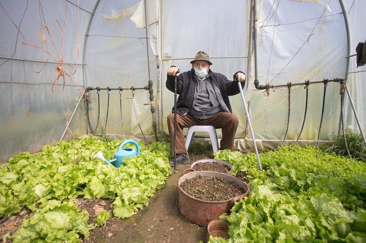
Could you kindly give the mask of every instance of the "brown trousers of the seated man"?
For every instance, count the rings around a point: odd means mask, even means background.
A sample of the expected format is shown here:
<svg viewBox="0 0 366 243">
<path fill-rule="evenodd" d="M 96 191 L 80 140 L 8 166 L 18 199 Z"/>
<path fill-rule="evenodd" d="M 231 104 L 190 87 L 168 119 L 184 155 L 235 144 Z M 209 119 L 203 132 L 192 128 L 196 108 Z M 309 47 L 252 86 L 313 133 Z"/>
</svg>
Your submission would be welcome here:
<svg viewBox="0 0 366 243">
<path fill-rule="evenodd" d="M 234 150 L 234 138 L 235 132 L 239 123 L 239 119 L 236 115 L 220 111 L 216 115 L 206 120 L 199 120 L 187 114 L 182 116 L 177 114 L 177 141 L 176 152 L 177 154 L 186 153 L 187 148 L 184 146 L 184 133 L 183 128 L 194 125 L 202 126 L 214 126 L 215 128 L 221 128 L 223 138 L 220 142 L 220 149 Z M 170 152 L 174 153 L 174 113 L 168 115 L 168 130 L 170 135 Z"/>
</svg>

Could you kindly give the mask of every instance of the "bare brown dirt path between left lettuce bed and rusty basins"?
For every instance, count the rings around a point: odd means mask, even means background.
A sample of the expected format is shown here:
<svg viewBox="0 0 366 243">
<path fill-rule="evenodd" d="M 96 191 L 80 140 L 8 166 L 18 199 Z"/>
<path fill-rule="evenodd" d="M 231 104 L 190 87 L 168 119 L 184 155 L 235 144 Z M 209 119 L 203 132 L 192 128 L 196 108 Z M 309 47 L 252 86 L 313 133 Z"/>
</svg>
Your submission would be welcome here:
<svg viewBox="0 0 366 243">
<path fill-rule="evenodd" d="M 195 158 L 195 160 L 201 158 Z M 103 227 L 91 231 L 84 242 L 108 243 L 196 243 L 206 241 L 207 227 L 190 223 L 178 208 L 178 180 L 190 164 L 178 166 L 149 205 L 127 219 L 111 217 Z"/>
</svg>

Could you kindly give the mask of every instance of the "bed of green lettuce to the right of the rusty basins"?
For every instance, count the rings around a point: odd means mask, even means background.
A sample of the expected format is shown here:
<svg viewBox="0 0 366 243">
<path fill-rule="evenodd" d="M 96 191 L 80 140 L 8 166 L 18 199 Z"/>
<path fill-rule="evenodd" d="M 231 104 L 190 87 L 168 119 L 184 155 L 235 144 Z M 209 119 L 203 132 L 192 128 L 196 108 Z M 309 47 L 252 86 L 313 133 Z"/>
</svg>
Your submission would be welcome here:
<svg viewBox="0 0 366 243">
<path fill-rule="evenodd" d="M 314 146 L 285 146 L 260 154 L 229 150 L 215 153 L 232 172 L 243 171 L 250 193 L 229 215 L 228 240 L 222 242 L 365 242 L 366 166 Z"/>
</svg>

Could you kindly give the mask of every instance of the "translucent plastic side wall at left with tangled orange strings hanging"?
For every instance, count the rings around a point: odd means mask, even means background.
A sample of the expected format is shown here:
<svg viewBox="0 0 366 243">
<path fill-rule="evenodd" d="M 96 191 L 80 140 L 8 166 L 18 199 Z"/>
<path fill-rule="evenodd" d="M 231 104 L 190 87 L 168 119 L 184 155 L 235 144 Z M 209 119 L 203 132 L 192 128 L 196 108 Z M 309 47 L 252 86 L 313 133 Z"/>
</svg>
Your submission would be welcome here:
<svg viewBox="0 0 366 243">
<path fill-rule="evenodd" d="M 5 161 L 61 138 L 83 92 L 81 51 L 90 13 L 68 1 L 0 3 L 0 161 Z M 84 117 L 79 108 L 66 139 L 86 133 Z"/>
</svg>

